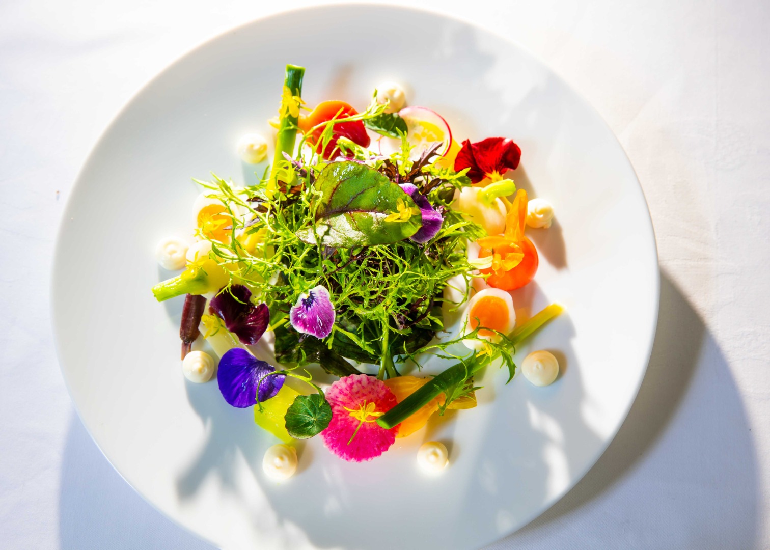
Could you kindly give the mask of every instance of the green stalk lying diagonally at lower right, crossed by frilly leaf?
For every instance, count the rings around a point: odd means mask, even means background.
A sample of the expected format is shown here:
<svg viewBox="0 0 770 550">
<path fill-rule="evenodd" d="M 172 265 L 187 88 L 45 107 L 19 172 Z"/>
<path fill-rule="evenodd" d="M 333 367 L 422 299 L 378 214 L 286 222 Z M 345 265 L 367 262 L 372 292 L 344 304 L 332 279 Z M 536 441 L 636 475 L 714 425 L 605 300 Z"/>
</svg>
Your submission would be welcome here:
<svg viewBox="0 0 770 550">
<path fill-rule="evenodd" d="M 521 344 L 521 342 L 534 334 L 537 329 L 558 314 L 561 314 L 563 310 L 564 308 L 559 304 L 551 304 L 546 307 L 511 333 L 511 336 L 509 337 L 511 344 L 514 347 Z M 390 409 L 390 411 L 387 411 L 383 416 L 377 418 L 377 424 L 380 424 L 381 427 L 387 430 L 394 428 L 397 424 L 405 421 L 412 414 L 415 414 L 422 407 L 430 403 L 430 401 L 438 397 L 439 394 L 444 393 L 448 387 L 462 384 L 482 368 L 490 364 L 490 362 L 491 358 L 485 355 L 484 357 L 473 357 L 466 363 L 452 365 L 447 368 L 446 371 L 438 374 L 433 380 L 423 385 L 423 387 L 420 387 L 420 389 Z"/>
</svg>

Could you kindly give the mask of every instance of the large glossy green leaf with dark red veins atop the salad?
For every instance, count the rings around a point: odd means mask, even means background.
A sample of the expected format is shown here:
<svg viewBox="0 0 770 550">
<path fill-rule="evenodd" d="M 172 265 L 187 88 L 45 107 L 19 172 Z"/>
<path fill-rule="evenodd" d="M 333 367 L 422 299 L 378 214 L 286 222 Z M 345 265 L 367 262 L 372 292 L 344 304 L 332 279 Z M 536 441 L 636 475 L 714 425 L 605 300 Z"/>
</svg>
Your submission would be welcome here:
<svg viewBox="0 0 770 550">
<path fill-rule="evenodd" d="M 423 223 L 417 205 L 396 183 L 369 166 L 343 161 L 324 166 L 316 179 L 316 233 L 321 243 L 335 248 L 397 243 L 408 239 Z M 417 210 L 408 220 L 385 221 L 398 212 L 398 201 Z M 313 230 L 297 233 L 316 244 Z"/>
</svg>

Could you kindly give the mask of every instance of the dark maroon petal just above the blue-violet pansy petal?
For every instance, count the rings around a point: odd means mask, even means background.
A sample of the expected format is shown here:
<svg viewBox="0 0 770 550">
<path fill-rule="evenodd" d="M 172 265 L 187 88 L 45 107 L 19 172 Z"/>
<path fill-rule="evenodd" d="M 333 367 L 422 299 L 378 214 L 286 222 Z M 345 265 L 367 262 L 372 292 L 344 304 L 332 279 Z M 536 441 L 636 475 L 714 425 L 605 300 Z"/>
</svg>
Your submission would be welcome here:
<svg viewBox="0 0 770 550">
<path fill-rule="evenodd" d="M 243 344 L 252 346 L 265 334 L 270 323 L 270 310 L 267 304 L 254 306 L 249 298 L 251 290 L 234 284 L 229 291 L 213 297 L 209 310 L 222 319 L 227 330 L 236 334 Z"/>
</svg>

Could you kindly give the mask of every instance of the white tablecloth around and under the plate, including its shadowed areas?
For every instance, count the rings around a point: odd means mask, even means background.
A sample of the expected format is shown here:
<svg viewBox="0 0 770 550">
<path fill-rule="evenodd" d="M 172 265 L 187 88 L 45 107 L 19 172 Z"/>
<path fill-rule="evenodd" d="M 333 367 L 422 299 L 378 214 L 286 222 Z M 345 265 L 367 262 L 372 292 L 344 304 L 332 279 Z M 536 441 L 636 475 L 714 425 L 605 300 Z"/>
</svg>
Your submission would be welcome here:
<svg viewBox="0 0 770 550">
<path fill-rule="evenodd" d="M 0 2 L 0 548 L 210 548 L 142 501 L 75 415 L 52 347 L 55 233 L 89 149 L 144 82 L 213 35 L 311 3 Z M 661 258 L 628 420 L 494 548 L 770 547 L 770 2 L 425 4 L 517 40 L 598 109 Z"/>
</svg>

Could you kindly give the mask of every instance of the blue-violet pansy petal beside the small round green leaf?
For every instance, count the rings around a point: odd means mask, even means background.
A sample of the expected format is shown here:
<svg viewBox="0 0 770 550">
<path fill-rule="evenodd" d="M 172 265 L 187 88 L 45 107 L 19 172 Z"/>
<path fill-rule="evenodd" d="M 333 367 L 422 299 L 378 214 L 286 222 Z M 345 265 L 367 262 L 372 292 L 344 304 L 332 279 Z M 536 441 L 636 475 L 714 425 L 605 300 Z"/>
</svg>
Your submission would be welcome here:
<svg viewBox="0 0 770 550">
<path fill-rule="evenodd" d="M 219 383 L 219 391 L 222 392 L 225 401 L 233 407 L 251 407 L 257 401 L 257 384 L 259 384 L 260 402 L 275 397 L 283 387 L 286 374 L 266 376 L 275 371 L 275 367 L 265 361 L 259 361 L 248 351 L 233 347 L 219 360 L 216 381 Z"/>
</svg>

